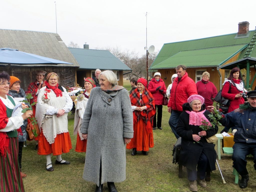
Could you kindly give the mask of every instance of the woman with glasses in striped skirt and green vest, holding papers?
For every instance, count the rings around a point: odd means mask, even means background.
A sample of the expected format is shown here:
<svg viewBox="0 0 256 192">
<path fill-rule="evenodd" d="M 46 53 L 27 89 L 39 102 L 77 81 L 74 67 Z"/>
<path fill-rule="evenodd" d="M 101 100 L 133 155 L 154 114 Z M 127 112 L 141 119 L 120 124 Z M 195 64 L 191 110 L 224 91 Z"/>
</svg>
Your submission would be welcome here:
<svg viewBox="0 0 256 192">
<path fill-rule="evenodd" d="M 33 114 L 31 110 L 12 116 L 13 109 L 19 104 L 9 92 L 10 76 L 5 71 L 0 73 L 0 191 L 24 191 L 18 163 L 18 134 L 23 121 Z M 27 105 L 23 105 L 26 108 Z"/>
</svg>

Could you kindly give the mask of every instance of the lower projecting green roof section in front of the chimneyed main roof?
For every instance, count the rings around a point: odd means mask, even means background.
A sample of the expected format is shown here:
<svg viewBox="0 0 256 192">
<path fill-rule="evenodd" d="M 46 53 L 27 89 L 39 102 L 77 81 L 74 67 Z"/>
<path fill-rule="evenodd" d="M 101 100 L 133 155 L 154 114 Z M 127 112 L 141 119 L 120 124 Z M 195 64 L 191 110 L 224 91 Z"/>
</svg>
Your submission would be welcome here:
<svg viewBox="0 0 256 192">
<path fill-rule="evenodd" d="M 193 51 L 180 51 L 168 59 L 151 67 L 151 69 L 169 69 L 178 65 L 186 67 L 217 67 L 232 58 L 247 45 L 200 49 Z"/>
</svg>

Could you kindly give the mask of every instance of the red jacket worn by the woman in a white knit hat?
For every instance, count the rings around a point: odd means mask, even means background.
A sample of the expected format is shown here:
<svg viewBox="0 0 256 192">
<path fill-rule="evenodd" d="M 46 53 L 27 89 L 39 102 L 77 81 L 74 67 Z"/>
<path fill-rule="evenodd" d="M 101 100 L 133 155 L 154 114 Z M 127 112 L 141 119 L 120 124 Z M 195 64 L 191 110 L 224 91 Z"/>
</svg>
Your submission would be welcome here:
<svg viewBox="0 0 256 192">
<path fill-rule="evenodd" d="M 164 90 L 162 93 L 158 90 L 156 91 L 156 88 L 160 86 L 160 89 Z M 155 78 L 152 78 L 148 84 L 148 91 L 150 91 L 152 96 L 154 97 L 155 105 L 163 105 L 164 94 L 166 93 L 166 87 L 163 79 L 160 78 L 159 81 L 156 81 Z"/>
</svg>

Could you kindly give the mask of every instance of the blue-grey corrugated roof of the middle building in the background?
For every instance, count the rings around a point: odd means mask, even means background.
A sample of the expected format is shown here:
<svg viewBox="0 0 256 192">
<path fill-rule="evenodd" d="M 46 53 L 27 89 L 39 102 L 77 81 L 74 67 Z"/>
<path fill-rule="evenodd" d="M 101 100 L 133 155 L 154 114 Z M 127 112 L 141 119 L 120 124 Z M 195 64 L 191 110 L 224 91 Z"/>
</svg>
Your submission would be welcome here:
<svg viewBox="0 0 256 192">
<path fill-rule="evenodd" d="M 107 50 L 71 48 L 80 65 L 80 69 L 131 70 L 122 61 Z"/>
</svg>

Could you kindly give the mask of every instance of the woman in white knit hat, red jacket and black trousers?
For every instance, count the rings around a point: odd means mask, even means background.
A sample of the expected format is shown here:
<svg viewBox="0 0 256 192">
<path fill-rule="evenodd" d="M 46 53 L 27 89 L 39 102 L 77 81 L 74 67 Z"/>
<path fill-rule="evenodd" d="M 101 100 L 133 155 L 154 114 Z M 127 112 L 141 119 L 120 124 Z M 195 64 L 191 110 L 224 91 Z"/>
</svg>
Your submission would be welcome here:
<svg viewBox="0 0 256 192">
<path fill-rule="evenodd" d="M 161 79 L 161 74 L 159 72 L 155 72 L 154 78 L 148 84 L 148 91 L 151 92 L 152 96 L 155 99 L 155 109 L 157 108 L 157 122 L 156 122 L 156 114 L 153 119 L 153 130 L 156 130 L 156 126 L 158 129 L 162 129 L 162 111 L 163 111 L 163 100 L 164 94 L 166 94 L 166 87 L 163 79 Z"/>
</svg>

